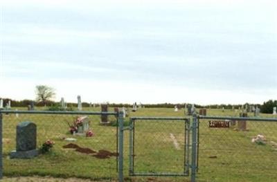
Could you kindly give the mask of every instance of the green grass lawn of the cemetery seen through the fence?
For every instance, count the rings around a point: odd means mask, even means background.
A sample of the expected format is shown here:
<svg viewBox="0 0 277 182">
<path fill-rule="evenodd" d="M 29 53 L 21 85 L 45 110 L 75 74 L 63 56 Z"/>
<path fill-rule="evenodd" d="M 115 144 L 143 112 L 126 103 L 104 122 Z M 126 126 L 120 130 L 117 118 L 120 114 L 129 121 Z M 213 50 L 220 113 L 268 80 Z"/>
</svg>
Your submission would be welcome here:
<svg viewBox="0 0 277 182">
<path fill-rule="evenodd" d="M 13 108 L 15 109 L 15 108 Z M 16 108 L 26 110 L 25 108 Z M 36 109 L 43 109 L 37 107 Z M 113 111 L 113 108 L 109 108 Z M 84 111 L 100 111 L 100 108 L 87 107 Z M 239 113 L 225 109 L 207 109 L 211 116 L 238 116 Z M 184 116 L 184 109 L 177 112 L 168 108 L 141 108 L 136 112 L 129 109 L 129 116 Z M 253 113 L 249 113 L 253 116 Z M 261 117 L 276 117 L 262 114 Z M 99 125 L 100 116 L 89 116 L 92 137 L 74 136 L 75 142 L 63 140 L 73 137 L 69 134 L 67 122 L 76 116 L 15 114 L 3 116 L 3 175 L 53 176 L 55 178 L 80 178 L 92 181 L 116 181 L 116 156 L 101 158 L 98 153 L 84 154 L 75 149 L 63 148 L 74 143 L 94 152 L 107 150 L 116 152 L 115 125 Z M 37 125 L 37 147 L 51 139 L 55 145 L 51 152 L 32 159 L 10 159 L 9 153 L 15 149 L 15 128 L 18 122 L 29 120 Z M 109 120 L 116 121 L 114 116 Z M 129 122 L 129 118 L 125 118 Z M 247 131 L 231 128 L 209 128 L 208 120 L 199 124 L 199 171 L 198 181 L 276 181 L 277 179 L 277 123 L 247 122 Z M 136 123 L 134 169 L 146 172 L 182 172 L 184 170 L 184 122 L 138 122 Z M 178 150 L 170 134 L 179 146 Z M 266 145 L 252 143 L 258 134 L 267 138 Z M 124 172 L 128 177 L 129 131 L 124 133 Z M 136 177 L 134 181 L 189 181 L 189 177 Z M 12 179 L 11 179 L 12 180 Z"/>
</svg>

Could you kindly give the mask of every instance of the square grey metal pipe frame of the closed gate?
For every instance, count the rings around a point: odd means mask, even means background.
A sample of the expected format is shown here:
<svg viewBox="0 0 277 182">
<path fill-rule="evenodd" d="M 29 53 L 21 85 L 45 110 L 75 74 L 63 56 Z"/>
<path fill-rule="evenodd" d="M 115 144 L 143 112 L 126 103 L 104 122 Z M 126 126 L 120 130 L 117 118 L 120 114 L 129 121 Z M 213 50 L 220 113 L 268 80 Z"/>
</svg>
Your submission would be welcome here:
<svg viewBox="0 0 277 182">
<path fill-rule="evenodd" d="M 135 122 L 139 120 L 159 120 L 166 122 L 175 120 L 184 122 L 184 172 L 183 173 L 145 173 L 134 172 L 134 134 Z M 189 175 L 189 152 L 190 147 L 190 119 L 177 117 L 131 117 L 129 118 L 129 176 L 188 176 Z"/>
</svg>

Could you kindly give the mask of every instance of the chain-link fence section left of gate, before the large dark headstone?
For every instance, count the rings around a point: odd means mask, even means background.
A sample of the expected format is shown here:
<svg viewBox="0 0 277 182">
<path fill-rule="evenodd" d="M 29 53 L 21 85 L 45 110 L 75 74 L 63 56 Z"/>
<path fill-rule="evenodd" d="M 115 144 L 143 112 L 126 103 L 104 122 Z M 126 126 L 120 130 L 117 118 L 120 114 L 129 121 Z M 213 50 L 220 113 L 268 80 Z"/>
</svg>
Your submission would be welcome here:
<svg viewBox="0 0 277 182">
<path fill-rule="evenodd" d="M 117 113 L 1 112 L 5 176 L 49 175 L 97 180 L 117 179 Z M 108 116 L 109 123 L 101 123 L 103 115 Z M 30 147 L 20 146 L 22 140 L 32 143 L 33 129 L 25 126 L 24 131 L 24 125 L 28 125 L 28 122 L 36 126 L 35 144 L 40 154 L 29 159 L 17 158 L 18 154 L 11 156 L 15 149 Z M 42 149 L 47 144 L 52 144 L 51 142 L 54 144 L 50 152 L 41 154 Z"/>
</svg>

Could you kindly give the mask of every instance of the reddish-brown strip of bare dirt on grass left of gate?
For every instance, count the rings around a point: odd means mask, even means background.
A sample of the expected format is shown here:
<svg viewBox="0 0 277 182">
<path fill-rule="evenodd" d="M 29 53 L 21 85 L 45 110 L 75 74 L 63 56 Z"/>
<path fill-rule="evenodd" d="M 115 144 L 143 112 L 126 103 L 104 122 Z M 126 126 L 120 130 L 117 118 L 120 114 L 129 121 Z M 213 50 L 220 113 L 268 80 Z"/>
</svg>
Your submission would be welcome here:
<svg viewBox="0 0 277 182">
<path fill-rule="evenodd" d="M 109 158 L 111 156 L 118 156 L 116 152 L 109 152 L 105 149 L 100 149 L 98 152 L 93 149 L 83 148 L 74 143 L 69 143 L 67 145 L 62 146 L 64 149 L 75 149 L 76 152 L 80 152 L 82 154 L 94 154 L 93 156 L 96 158 Z M 95 154 L 96 153 L 96 154 Z"/>
</svg>

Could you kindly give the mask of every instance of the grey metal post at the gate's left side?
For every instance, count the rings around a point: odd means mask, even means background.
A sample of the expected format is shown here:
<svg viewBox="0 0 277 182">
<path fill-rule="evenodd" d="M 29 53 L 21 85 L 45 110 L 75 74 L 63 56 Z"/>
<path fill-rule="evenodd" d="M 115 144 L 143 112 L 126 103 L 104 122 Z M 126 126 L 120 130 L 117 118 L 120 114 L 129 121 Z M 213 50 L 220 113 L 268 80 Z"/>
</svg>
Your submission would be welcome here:
<svg viewBox="0 0 277 182">
<path fill-rule="evenodd" d="M 119 132 L 118 132 L 118 181 L 123 182 L 123 111 L 118 113 L 118 124 L 119 124 Z"/>
</svg>

